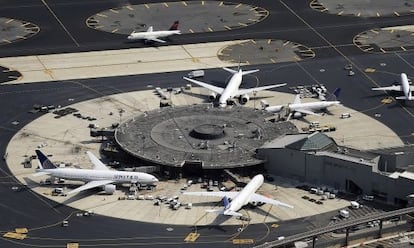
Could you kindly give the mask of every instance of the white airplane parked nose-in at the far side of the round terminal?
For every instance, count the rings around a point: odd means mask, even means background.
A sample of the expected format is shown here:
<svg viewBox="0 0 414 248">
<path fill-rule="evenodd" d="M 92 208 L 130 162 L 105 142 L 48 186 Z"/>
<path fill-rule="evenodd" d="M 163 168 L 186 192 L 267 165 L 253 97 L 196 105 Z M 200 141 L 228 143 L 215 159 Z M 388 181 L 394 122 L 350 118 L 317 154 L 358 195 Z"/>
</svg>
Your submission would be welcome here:
<svg viewBox="0 0 414 248">
<path fill-rule="evenodd" d="M 242 71 L 242 69 L 239 69 L 238 71 L 232 70 L 229 68 L 223 68 L 225 71 L 228 71 L 233 74 L 233 76 L 230 78 L 226 88 L 217 87 L 211 84 L 207 84 L 204 82 L 200 82 L 191 78 L 184 77 L 185 80 L 195 83 L 197 85 L 200 85 L 201 87 L 207 88 L 212 91 L 209 98 L 210 100 L 215 100 L 217 96 L 219 95 L 219 106 L 220 107 L 226 107 L 227 102 L 234 97 L 239 97 L 239 102 L 241 104 L 245 104 L 249 101 L 249 93 L 262 91 L 262 90 L 268 90 L 276 87 L 281 87 L 286 84 L 276 84 L 276 85 L 268 85 L 268 86 L 262 86 L 262 87 L 256 87 L 256 88 L 250 88 L 250 89 L 239 89 L 240 84 L 242 82 L 243 76 L 257 72 L 259 70 L 251 70 L 251 71 Z"/>
</svg>

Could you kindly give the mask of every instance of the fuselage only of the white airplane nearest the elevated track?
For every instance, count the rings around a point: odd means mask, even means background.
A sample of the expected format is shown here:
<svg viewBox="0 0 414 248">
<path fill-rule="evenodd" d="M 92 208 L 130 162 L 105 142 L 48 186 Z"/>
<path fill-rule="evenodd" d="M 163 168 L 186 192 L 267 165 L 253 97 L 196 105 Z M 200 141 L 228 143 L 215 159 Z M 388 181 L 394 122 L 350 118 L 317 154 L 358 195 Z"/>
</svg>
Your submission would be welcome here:
<svg viewBox="0 0 414 248">
<path fill-rule="evenodd" d="M 262 186 L 264 182 L 263 175 L 259 174 L 244 187 L 237 196 L 232 199 L 229 207 L 224 210 L 224 214 L 226 215 L 226 210 L 231 210 L 233 212 L 239 211 L 244 205 L 249 203 L 250 197 L 257 191 L 257 189 Z"/>
</svg>

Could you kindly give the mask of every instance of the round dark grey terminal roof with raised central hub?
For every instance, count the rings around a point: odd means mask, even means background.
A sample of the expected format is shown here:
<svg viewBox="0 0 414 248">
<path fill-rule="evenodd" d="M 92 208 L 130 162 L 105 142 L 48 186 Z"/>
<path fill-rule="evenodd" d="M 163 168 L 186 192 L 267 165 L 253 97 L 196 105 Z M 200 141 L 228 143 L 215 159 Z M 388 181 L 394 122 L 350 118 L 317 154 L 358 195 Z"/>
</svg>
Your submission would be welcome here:
<svg viewBox="0 0 414 248">
<path fill-rule="evenodd" d="M 262 163 L 256 149 L 286 133 L 290 122 L 271 122 L 272 114 L 247 107 L 213 108 L 211 104 L 162 108 L 133 117 L 115 133 L 120 147 L 154 164 L 203 169 Z"/>
</svg>

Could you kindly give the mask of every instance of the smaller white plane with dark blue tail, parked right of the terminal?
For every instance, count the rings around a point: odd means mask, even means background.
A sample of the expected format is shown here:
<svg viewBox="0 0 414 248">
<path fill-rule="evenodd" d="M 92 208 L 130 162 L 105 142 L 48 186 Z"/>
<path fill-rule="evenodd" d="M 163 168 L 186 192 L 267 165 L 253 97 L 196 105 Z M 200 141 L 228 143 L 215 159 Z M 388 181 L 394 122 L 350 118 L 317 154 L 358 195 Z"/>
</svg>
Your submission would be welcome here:
<svg viewBox="0 0 414 248">
<path fill-rule="evenodd" d="M 339 101 L 336 101 L 339 93 L 341 92 L 340 88 L 337 88 L 334 93 L 328 97 L 328 101 L 318 101 L 318 102 L 306 102 L 302 103 L 300 100 L 300 95 L 296 95 L 295 101 L 290 104 L 285 105 L 274 105 L 274 106 L 267 106 L 264 108 L 267 112 L 275 113 L 280 112 L 282 108 L 288 108 L 289 110 L 289 117 L 292 116 L 293 118 L 300 118 L 304 115 L 318 115 L 320 116 L 318 111 L 322 111 L 327 109 L 330 106 L 339 105 L 341 104 Z"/>
</svg>

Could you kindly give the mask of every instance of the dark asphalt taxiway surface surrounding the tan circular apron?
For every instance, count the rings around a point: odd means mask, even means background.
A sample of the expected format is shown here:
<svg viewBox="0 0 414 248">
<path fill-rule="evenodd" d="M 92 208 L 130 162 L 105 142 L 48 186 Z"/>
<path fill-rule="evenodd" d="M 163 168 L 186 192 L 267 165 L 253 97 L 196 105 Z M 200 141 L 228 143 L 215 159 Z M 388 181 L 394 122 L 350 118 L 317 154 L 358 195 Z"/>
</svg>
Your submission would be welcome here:
<svg viewBox="0 0 414 248">
<path fill-rule="evenodd" d="M 252 1 L 241 1 L 246 4 Z M 142 1 L 134 1 L 135 4 Z M 104 9 L 123 5 L 122 1 L 3 1 L 0 16 L 30 21 L 40 27 L 40 32 L 28 40 L 0 46 L 0 56 L 39 55 L 49 53 L 79 52 L 91 50 L 144 47 L 142 43 L 127 43 L 125 37 L 92 30 L 85 20 Z M 355 18 L 322 14 L 309 9 L 308 2 L 266 1 L 261 7 L 270 10 L 262 22 L 243 29 L 226 32 L 185 34 L 171 39 L 170 44 L 189 44 L 234 39 L 284 39 L 292 40 L 313 49 L 315 59 L 303 62 L 266 64 L 254 66 L 261 84 L 288 82 L 289 87 L 323 83 L 330 91 L 342 88 L 341 102 L 369 116 L 375 116 L 393 129 L 406 143 L 413 143 L 414 103 L 393 102 L 382 104 L 386 95 L 370 90 L 378 85 L 389 85 L 398 79 L 399 73 L 414 75 L 413 51 L 404 53 L 367 54 L 354 46 L 352 37 L 362 31 L 377 27 L 412 24 L 412 16 Z M 344 65 L 354 64 L 354 76 L 348 76 Z M 247 69 L 248 67 L 246 67 Z M 375 68 L 375 72 L 365 72 Z M 228 75 L 221 69 L 206 71 L 206 82 L 221 84 Z M 25 124 L 39 114 L 28 111 L 33 104 L 66 106 L 104 95 L 154 87 L 176 87 L 183 84 L 182 73 L 134 75 L 99 79 L 68 80 L 36 84 L 1 85 L 0 154 L 4 154 L 8 141 Z M 114 83 L 115 82 L 115 83 Z M 245 85 L 250 87 L 251 85 Z M 280 90 L 280 89 L 278 89 Z M 289 88 L 281 91 L 291 92 Z M 17 121 L 17 124 L 12 122 Z M 370 138 L 370 137 L 361 137 Z M 54 206 L 45 198 L 28 190 L 13 190 L 18 185 L 8 174 L 7 165 L 0 161 L 0 192 L 5 199 L 0 204 L 4 234 L 18 227 L 29 228 L 28 238 L 18 241 L 1 238 L 0 246 L 62 247 L 68 242 L 79 242 L 90 247 L 228 247 L 231 240 L 253 238 L 258 243 L 274 240 L 278 236 L 308 230 L 314 225 L 329 222 L 327 216 L 315 216 L 282 223 L 278 228 L 267 224 L 250 225 L 239 233 L 238 227 L 198 228 L 201 234 L 195 243 L 184 241 L 194 227 L 165 226 L 136 223 L 108 217 L 78 217 L 74 209 Z M 71 215 L 72 214 L 72 215 Z M 59 223 L 70 216 L 70 226 Z M 171 229 L 167 229 L 171 227 Z"/>
</svg>

